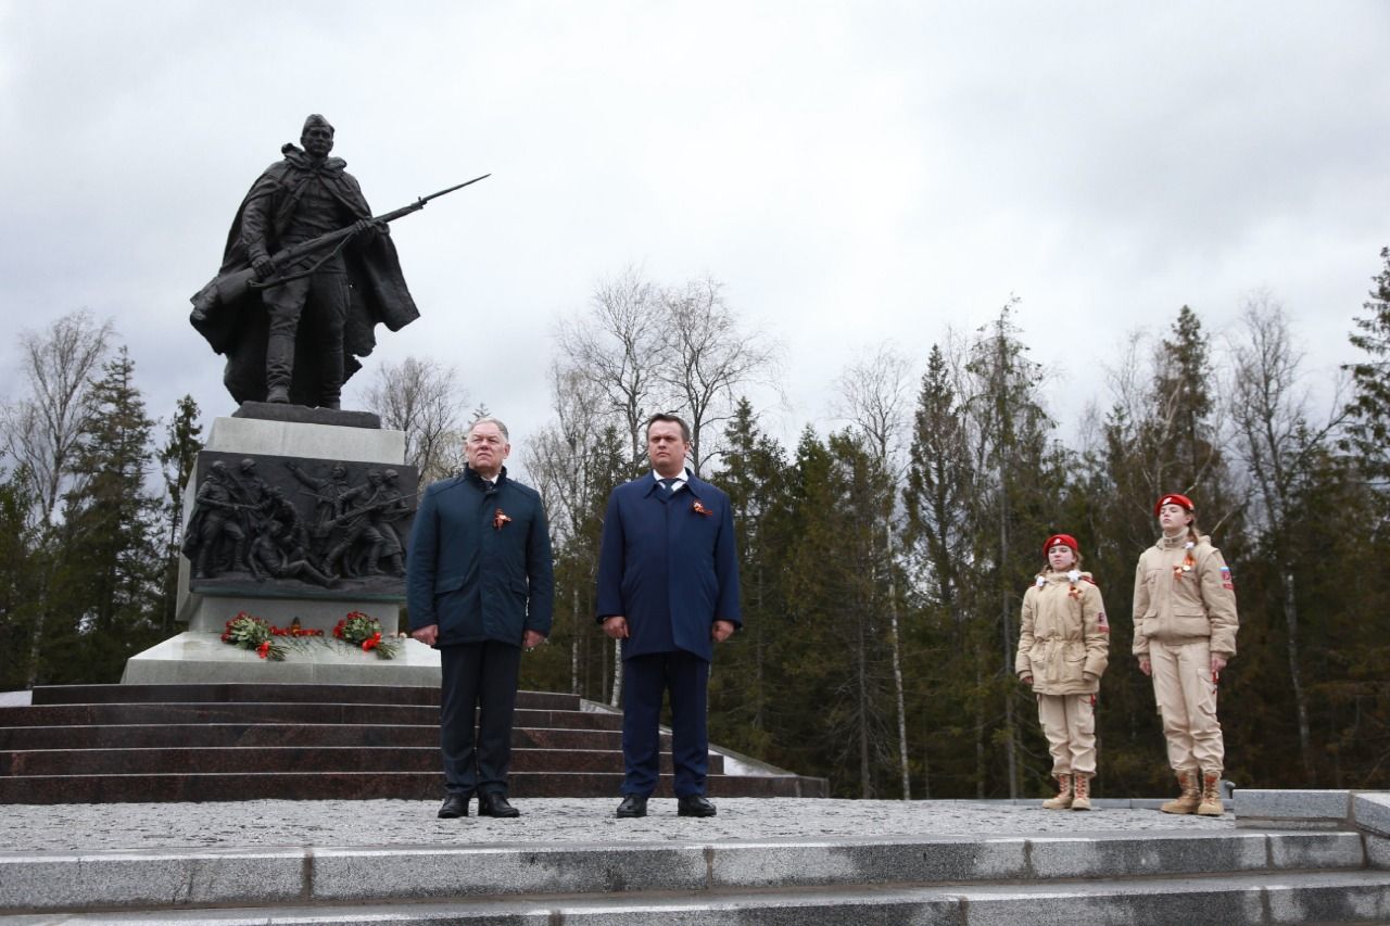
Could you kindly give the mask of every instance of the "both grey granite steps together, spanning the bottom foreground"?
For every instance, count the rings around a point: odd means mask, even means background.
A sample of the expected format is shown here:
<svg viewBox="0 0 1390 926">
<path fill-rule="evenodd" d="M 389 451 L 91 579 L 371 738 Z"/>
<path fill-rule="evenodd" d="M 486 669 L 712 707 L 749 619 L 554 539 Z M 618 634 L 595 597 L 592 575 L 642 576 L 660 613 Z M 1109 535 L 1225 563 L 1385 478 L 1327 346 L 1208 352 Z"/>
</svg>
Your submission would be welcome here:
<svg viewBox="0 0 1390 926">
<path fill-rule="evenodd" d="M 1332 923 L 1390 916 L 1358 833 L 0 854 L 63 922 Z M 221 908 L 221 909 L 214 909 Z M 153 919 L 158 918 L 158 919 Z"/>
</svg>

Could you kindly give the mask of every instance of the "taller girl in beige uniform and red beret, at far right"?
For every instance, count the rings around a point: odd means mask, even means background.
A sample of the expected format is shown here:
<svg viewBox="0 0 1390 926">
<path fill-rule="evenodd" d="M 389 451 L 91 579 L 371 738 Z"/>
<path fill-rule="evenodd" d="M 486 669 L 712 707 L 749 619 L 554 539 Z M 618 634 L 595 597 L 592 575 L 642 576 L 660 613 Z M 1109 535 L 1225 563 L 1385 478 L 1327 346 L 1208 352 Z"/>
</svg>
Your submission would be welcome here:
<svg viewBox="0 0 1390 926">
<path fill-rule="evenodd" d="M 1226 751 L 1216 685 L 1236 655 L 1236 591 L 1220 551 L 1197 531 L 1190 498 L 1165 495 L 1154 514 L 1163 535 L 1134 573 L 1134 655 L 1154 679 L 1168 762 L 1182 787 L 1159 809 L 1220 816 Z"/>
</svg>

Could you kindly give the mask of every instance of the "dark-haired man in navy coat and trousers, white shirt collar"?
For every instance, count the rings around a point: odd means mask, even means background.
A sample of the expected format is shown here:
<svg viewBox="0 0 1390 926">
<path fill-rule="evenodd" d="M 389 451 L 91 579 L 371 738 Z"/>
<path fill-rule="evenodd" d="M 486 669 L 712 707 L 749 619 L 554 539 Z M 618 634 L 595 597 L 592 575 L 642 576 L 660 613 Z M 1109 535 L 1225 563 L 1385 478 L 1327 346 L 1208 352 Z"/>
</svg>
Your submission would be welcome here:
<svg viewBox="0 0 1390 926">
<path fill-rule="evenodd" d="M 623 802 L 646 816 L 656 788 L 662 697 L 671 699 L 671 756 L 681 816 L 714 816 L 705 798 L 705 729 L 714 642 L 741 626 L 728 496 L 685 470 L 691 432 L 674 414 L 646 423 L 652 474 L 613 489 L 599 548 L 598 617 L 623 640 Z"/>
</svg>

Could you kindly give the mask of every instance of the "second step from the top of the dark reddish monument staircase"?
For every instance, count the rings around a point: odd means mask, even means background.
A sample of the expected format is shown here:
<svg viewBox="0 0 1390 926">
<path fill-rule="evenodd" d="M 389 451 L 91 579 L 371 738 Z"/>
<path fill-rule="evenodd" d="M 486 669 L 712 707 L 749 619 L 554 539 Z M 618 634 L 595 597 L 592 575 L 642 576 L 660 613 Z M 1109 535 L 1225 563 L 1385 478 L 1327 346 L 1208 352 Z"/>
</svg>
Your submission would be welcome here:
<svg viewBox="0 0 1390 926">
<path fill-rule="evenodd" d="M 111 726 L 157 723 L 345 723 L 439 724 L 439 708 L 378 704 L 72 704 L 0 708 L 0 727 Z M 518 727 L 621 730 L 623 715 L 594 710 L 517 709 Z"/>
</svg>

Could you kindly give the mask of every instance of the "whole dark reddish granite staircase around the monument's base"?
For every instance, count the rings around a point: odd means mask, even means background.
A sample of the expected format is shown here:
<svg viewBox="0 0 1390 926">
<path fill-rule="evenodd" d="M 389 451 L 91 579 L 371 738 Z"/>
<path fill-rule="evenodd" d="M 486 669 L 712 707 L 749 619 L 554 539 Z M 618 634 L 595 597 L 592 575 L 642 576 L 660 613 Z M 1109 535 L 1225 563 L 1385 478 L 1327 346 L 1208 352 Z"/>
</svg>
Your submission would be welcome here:
<svg viewBox="0 0 1390 926">
<path fill-rule="evenodd" d="M 621 713 L 518 692 L 512 797 L 614 797 Z M 663 738 L 657 794 L 670 794 Z M 717 747 L 716 747 L 717 748 Z M 716 797 L 826 797 L 809 779 L 710 755 Z M 439 691 L 411 685 L 120 684 L 33 690 L 0 706 L 0 804 L 434 799 Z"/>
</svg>

